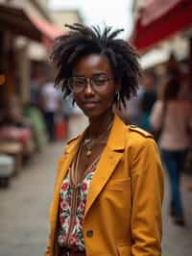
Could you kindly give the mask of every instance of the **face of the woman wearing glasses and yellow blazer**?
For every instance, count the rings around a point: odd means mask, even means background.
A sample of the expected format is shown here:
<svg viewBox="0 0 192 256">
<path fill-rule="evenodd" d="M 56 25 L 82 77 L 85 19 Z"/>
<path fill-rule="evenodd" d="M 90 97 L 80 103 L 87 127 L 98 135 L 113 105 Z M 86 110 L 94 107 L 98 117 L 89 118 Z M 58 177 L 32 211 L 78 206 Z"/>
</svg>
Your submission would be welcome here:
<svg viewBox="0 0 192 256">
<path fill-rule="evenodd" d="M 84 115 L 91 119 L 111 111 L 117 87 L 106 56 L 84 56 L 73 68 L 72 75 L 77 79 L 77 85 L 85 84 L 84 90 L 73 92 L 74 99 Z"/>
</svg>

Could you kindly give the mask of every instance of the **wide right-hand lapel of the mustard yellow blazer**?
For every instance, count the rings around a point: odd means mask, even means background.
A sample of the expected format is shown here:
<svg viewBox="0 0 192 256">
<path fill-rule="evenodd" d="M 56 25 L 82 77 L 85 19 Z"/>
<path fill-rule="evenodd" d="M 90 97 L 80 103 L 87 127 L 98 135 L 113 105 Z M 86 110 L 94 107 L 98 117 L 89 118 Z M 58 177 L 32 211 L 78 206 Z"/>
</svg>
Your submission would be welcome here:
<svg viewBox="0 0 192 256">
<path fill-rule="evenodd" d="M 104 149 L 89 187 L 84 218 L 123 156 L 127 129 L 127 126 L 115 115 L 107 146 Z"/>
</svg>

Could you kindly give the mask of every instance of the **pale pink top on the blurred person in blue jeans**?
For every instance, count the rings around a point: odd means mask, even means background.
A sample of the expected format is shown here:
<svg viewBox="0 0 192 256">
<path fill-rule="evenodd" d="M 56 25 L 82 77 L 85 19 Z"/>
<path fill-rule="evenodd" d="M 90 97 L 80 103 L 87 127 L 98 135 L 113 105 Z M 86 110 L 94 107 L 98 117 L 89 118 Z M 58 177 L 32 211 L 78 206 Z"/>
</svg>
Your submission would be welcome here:
<svg viewBox="0 0 192 256">
<path fill-rule="evenodd" d="M 163 123 L 158 144 L 160 148 L 167 150 L 188 148 L 190 145 L 189 128 L 192 127 L 192 104 L 184 100 L 169 100 L 166 104 L 164 119 L 162 118 L 162 100 L 156 101 L 150 118 L 155 130 L 158 130 Z"/>
</svg>

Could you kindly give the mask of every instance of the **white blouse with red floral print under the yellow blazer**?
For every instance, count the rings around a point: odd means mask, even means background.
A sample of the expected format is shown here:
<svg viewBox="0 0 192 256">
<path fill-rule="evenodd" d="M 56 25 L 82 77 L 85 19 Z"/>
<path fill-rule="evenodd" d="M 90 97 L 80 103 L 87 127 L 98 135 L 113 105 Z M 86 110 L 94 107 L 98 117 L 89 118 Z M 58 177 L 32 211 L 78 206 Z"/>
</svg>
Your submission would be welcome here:
<svg viewBox="0 0 192 256">
<path fill-rule="evenodd" d="M 70 168 L 60 188 L 60 227 L 58 243 L 60 247 L 75 247 L 84 250 L 83 221 L 86 197 L 94 170 L 99 159 L 84 172 L 81 184 L 74 185 L 70 178 Z"/>
</svg>

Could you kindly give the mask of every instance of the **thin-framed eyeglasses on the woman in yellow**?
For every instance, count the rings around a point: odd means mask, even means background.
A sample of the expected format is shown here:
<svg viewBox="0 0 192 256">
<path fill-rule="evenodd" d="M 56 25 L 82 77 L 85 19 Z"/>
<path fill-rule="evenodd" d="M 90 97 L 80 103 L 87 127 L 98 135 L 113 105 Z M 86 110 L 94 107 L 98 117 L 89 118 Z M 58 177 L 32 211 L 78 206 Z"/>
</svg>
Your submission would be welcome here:
<svg viewBox="0 0 192 256">
<path fill-rule="evenodd" d="M 103 92 L 108 89 L 111 80 L 113 78 L 108 77 L 106 74 L 95 74 L 90 78 L 73 76 L 68 79 L 68 87 L 72 92 L 79 93 L 89 84 L 95 92 Z"/>
</svg>

